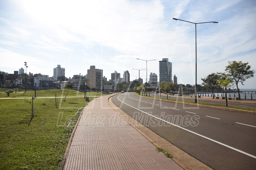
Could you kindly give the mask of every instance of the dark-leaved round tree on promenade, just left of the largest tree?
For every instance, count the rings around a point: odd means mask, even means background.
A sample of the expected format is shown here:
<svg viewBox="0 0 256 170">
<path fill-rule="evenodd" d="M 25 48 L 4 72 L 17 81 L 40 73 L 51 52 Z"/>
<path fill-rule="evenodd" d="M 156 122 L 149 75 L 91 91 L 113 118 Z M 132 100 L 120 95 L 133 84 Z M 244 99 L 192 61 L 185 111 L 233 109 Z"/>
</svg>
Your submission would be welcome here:
<svg viewBox="0 0 256 170">
<path fill-rule="evenodd" d="M 213 94 L 214 89 L 220 87 L 220 84 L 217 82 L 218 79 L 219 79 L 219 75 L 216 73 L 211 73 L 207 77 L 201 78 L 201 80 L 203 81 L 202 85 L 212 90 L 213 99 L 214 99 L 214 94 Z"/>
</svg>

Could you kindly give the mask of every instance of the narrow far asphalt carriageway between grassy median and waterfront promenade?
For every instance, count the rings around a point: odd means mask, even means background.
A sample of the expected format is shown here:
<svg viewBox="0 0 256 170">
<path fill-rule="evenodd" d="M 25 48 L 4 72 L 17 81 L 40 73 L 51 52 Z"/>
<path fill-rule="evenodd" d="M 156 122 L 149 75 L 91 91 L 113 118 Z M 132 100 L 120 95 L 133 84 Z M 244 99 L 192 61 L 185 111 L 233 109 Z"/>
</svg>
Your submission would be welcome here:
<svg viewBox="0 0 256 170">
<path fill-rule="evenodd" d="M 143 93 L 144 95 L 144 93 Z M 150 97 L 151 96 L 154 96 L 155 93 L 150 93 Z M 156 97 L 160 97 L 159 96 L 159 93 L 157 93 Z M 167 97 L 165 95 L 161 95 L 161 98 L 164 98 L 166 99 Z M 168 99 L 177 99 L 177 96 L 175 97 L 172 97 L 172 96 L 169 96 L 168 95 Z M 197 98 L 199 102 L 205 102 L 205 103 L 212 103 L 212 104 L 219 104 L 219 105 L 225 105 L 226 106 L 226 101 L 212 101 L 212 100 L 200 100 L 200 98 Z M 179 100 L 182 100 L 181 97 L 179 97 Z M 195 101 L 194 98 L 191 98 L 191 99 L 187 99 L 187 98 L 184 98 L 185 101 Z M 237 106 L 237 107 L 246 107 L 246 108 L 256 108 L 256 105 L 254 104 L 243 104 L 243 103 L 232 103 L 232 102 L 228 102 L 228 106 Z"/>
</svg>

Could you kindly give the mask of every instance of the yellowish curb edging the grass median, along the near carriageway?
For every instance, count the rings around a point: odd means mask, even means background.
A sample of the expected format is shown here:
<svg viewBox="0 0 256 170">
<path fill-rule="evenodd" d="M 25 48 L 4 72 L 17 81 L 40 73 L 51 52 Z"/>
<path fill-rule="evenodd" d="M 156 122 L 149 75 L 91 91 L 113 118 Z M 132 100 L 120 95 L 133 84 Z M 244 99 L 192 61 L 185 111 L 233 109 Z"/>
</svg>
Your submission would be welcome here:
<svg viewBox="0 0 256 170">
<path fill-rule="evenodd" d="M 136 94 L 136 93 L 134 93 Z M 137 94 L 136 94 L 137 95 Z M 141 95 L 137 95 L 140 97 L 145 97 L 145 96 L 141 96 Z M 145 97 L 148 98 L 148 97 Z M 151 98 L 152 99 L 152 98 Z M 154 98 L 156 99 L 156 98 Z M 156 100 L 165 100 L 165 99 L 156 99 Z M 209 108 L 215 108 L 215 109 L 222 109 L 222 110 L 231 110 L 231 111 L 235 111 L 235 112 L 242 112 L 242 113 L 251 113 L 251 114 L 256 114 L 255 111 L 251 111 L 251 110 L 241 110 L 241 109 L 233 109 L 233 108 L 226 108 L 226 107 L 219 107 L 219 106 L 208 106 L 208 105 L 199 105 L 199 104 L 193 104 L 193 103 L 183 103 L 183 102 L 179 102 L 179 101 L 170 101 L 170 100 L 165 100 L 168 102 L 174 102 L 174 103 L 179 103 L 179 104 L 185 104 L 185 105 L 194 105 L 194 106 L 200 106 L 200 107 L 209 107 Z"/>
</svg>

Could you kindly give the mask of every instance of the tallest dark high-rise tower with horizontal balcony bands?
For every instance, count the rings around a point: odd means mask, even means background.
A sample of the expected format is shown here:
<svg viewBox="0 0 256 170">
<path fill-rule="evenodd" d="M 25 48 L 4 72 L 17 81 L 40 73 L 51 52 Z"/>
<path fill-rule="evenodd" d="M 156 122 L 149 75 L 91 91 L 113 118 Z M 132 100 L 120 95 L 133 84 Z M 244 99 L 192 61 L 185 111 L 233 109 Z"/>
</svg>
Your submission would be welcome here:
<svg viewBox="0 0 256 170">
<path fill-rule="evenodd" d="M 168 58 L 159 61 L 159 82 L 173 83 L 172 80 L 172 62 Z"/>
</svg>

